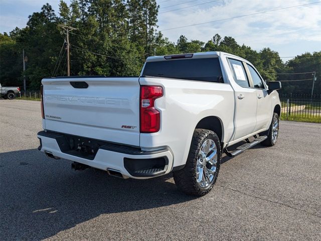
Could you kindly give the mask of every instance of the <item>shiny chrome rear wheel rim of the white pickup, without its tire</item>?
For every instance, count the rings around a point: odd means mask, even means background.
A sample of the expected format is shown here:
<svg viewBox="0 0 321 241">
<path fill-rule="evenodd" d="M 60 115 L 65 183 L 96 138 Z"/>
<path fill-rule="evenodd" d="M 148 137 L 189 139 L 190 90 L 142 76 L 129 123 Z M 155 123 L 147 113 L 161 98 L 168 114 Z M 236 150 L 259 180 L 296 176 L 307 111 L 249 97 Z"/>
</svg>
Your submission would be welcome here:
<svg viewBox="0 0 321 241">
<path fill-rule="evenodd" d="M 207 139 L 198 155 L 196 163 L 196 181 L 201 188 L 208 188 L 214 182 L 217 168 L 217 147 L 215 142 Z"/>
</svg>

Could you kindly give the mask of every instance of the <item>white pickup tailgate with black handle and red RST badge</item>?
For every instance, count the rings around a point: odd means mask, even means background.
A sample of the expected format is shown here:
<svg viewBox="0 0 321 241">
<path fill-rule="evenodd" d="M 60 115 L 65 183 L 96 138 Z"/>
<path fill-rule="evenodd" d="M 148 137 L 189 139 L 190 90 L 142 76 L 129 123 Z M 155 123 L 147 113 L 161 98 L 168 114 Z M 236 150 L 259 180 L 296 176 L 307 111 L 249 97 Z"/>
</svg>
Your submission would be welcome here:
<svg viewBox="0 0 321 241">
<path fill-rule="evenodd" d="M 45 78 L 42 84 L 45 130 L 139 146 L 138 77 Z"/>
</svg>

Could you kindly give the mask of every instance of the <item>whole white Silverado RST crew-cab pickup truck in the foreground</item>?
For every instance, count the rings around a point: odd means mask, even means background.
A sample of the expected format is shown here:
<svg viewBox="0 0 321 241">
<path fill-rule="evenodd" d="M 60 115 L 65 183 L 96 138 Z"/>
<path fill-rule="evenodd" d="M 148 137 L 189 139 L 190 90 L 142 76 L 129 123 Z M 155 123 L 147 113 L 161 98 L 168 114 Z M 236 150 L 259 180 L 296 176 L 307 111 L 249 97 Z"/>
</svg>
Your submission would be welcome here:
<svg viewBox="0 0 321 241">
<path fill-rule="evenodd" d="M 139 77 L 44 78 L 39 150 L 122 178 L 173 172 L 181 190 L 202 196 L 222 152 L 275 145 L 280 88 L 223 52 L 148 57 Z"/>
</svg>

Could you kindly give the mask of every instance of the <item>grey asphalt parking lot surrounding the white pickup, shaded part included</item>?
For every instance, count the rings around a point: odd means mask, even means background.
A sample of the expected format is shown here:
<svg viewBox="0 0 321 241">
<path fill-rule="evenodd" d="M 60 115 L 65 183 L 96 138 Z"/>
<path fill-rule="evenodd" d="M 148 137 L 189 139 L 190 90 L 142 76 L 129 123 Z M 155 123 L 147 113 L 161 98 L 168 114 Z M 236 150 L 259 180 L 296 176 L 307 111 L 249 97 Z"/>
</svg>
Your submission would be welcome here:
<svg viewBox="0 0 321 241">
<path fill-rule="evenodd" d="M 0 100 L 1 240 L 321 240 L 321 125 L 223 158 L 194 198 L 171 175 L 121 180 L 37 150 L 40 102 Z"/>
</svg>

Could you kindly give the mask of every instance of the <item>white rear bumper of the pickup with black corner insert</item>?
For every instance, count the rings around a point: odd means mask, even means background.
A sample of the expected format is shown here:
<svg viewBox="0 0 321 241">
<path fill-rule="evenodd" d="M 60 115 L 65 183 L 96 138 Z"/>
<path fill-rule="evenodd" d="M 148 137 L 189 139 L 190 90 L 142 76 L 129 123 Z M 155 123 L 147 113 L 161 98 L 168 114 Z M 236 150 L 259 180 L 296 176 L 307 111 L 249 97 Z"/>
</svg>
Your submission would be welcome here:
<svg viewBox="0 0 321 241">
<path fill-rule="evenodd" d="M 119 171 L 124 178 L 147 179 L 165 175 L 173 169 L 173 155 L 167 150 L 141 151 L 138 148 L 108 143 L 100 147 L 92 160 L 61 150 L 57 140 L 64 134 L 39 132 L 39 150 L 55 157 L 82 163 L 97 169 Z M 162 164 L 159 166 L 159 164 Z M 164 165 L 163 165 L 164 164 Z M 141 169 L 141 170 L 140 170 Z"/>
</svg>

